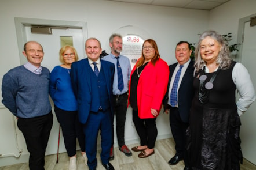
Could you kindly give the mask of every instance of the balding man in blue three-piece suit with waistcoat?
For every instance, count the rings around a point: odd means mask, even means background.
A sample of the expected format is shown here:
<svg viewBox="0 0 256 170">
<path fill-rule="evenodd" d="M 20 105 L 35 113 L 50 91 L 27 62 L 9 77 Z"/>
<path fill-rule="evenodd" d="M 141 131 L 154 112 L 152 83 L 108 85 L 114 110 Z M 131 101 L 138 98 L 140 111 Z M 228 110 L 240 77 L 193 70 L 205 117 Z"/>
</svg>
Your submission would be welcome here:
<svg viewBox="0 0 256 170">
<path fill-rule="evenodd" d="M 101 44 L 95 38 L 86 40 L 88 58 L 72 63 L 70 76 L 78 100 L 79 121 L 83 123 L 85 150 L 89 169 L 97 167 L 97 137 L 101 131 L 101 162 L 105 169 L 114 169 L 109 163 L 112 145 L 112 86 L 115 65 L 100 59 Z"/>
</svg>

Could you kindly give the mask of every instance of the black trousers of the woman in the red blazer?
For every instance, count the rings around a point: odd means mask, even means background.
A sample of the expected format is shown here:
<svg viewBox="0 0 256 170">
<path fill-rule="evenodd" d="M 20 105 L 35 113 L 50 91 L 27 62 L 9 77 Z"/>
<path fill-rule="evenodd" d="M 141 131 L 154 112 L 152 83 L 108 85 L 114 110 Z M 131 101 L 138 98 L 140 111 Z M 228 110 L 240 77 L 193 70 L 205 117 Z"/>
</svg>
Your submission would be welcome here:
<svg viewBox="0 0 256 170">
<path fill-rule="evenodd" d="M 141 119 L 138 111 L 133 110 L 133 123 L 140 137 L 141 146 L 147 145 L 149 149 L 155 148 L 158 129 L 156 128 L 156 118 Z"/>
</svg>

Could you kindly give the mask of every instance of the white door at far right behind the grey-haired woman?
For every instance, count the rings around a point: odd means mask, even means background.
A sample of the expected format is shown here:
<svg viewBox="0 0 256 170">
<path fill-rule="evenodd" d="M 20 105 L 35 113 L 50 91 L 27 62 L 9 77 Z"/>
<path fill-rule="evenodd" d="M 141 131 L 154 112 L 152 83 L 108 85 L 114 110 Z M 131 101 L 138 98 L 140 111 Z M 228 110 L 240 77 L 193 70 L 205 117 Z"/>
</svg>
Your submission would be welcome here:
<svg viewBox="0 0 256 170">
<path fill-rule="evenodd" d="M 251 80 L 256 86 L 256 26 L 250 27 L 250 22 L 244 24 L 244 42 L 242 46 L 242 64 L 251 75 Z M 253 164 L 256 164 L 256 103 L 241 116 L 242 126 L 240 137 L 242 140 L 243 157 Z"/>
</svg>

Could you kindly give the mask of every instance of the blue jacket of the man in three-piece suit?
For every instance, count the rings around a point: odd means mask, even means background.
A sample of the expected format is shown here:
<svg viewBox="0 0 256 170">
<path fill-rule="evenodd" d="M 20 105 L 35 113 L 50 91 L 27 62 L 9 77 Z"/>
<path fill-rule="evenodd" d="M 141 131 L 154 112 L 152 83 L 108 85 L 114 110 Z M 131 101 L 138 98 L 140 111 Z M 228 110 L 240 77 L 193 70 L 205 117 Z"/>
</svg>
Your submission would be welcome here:
<svg viewBox="0 0 256 170">
<path fill-rule="evenodd" d="M 113 109 L 113 81 L 115 73 L 115 65 L 108 61 L 100 60 L 101 70 L 103 70 L 105 75 L 105 80 L 108 89 L 109 103 L 111 108 L 111 114 L 114 115 Z M 92 84 L 91 84 L 91 74 L 92 67 L 89 64 L 88 58 L 82 59 L 72 63 L 70 77 L 72 88 L 74 90 L 76 99 L 78 100 L 78 116 L 79 122 L 85 124 L 88 116 L 90 114 L 90 105 L 92 102 Z"/>
</svg>

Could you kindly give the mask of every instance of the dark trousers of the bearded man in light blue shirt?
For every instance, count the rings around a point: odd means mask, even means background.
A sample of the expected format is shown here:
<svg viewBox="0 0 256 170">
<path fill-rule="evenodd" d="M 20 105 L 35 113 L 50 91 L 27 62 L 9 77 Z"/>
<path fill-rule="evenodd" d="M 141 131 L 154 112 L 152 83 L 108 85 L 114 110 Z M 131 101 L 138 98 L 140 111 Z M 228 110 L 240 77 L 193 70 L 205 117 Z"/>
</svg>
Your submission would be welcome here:
<svg viewBox="0 0 256 170">
<path fill-rule="evenodd" d="M 128 95 L 114 95 L 114 108 L 116 115 L 116 135 L 118 138 L 118 145 L 125 145 L 125 120 L 127 111 Z M 114 118 L 113 118 L 114 119 Z M 114 144 L 114 124 L 112 128 L 112 145 Z"/>
</svg>

